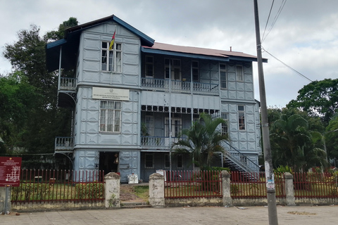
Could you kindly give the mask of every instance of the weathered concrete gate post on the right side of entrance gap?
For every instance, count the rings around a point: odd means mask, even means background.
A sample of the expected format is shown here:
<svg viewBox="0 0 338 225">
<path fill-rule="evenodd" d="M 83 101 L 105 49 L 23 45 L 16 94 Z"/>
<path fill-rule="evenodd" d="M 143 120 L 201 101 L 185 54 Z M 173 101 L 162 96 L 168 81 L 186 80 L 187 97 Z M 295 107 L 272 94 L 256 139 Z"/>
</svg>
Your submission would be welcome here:
<svg viewBox="0 0 338 225">
<path fill-rule="evenodd" d="M 164 176 L 151 174 L 149 176 L 149 203 L 151 207 L 164 207 Z"/>
</svg>

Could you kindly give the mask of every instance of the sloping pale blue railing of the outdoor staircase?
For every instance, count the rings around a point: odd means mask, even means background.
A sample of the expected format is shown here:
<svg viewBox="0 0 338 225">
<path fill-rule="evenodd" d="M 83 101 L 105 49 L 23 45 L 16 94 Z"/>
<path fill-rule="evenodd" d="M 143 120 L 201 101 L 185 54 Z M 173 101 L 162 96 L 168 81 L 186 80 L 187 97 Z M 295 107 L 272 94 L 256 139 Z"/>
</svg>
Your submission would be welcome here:
<svg viewBox="0 0 338 225">
<path fill-rule="evenodd" d="M 227 143 L 226 141 L 223 142 L 230 146 L 230 150 L 225 151 L 223 157 L 228 158 L 237 166 L 244 169 L 246 172 L 259 172 L 259 166 L 255 162 L 253 162 L 248 157 L 246 157 L 246 155 L 231 146 L 230 143 Z"/>
</svg>

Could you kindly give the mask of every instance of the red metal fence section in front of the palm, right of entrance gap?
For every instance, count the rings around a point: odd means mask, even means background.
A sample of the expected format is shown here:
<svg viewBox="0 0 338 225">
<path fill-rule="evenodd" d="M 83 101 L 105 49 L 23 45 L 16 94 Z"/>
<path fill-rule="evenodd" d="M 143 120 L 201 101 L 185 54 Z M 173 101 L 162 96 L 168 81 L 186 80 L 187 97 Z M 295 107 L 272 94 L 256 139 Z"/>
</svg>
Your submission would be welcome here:
<svg viewBox="0 0 338 225">
<path fill-rule="evenodd" d="M 165 171 L 165 198 L 220 198 L 220 171 Z"/>
</svg>

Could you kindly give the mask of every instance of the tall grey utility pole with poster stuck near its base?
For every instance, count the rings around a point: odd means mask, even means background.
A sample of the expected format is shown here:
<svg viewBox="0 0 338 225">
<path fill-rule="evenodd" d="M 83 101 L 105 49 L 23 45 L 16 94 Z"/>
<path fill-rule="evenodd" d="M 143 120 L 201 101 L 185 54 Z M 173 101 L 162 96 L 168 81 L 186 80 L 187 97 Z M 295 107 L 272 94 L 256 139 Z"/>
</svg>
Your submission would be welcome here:
<svg viewBox="0 0 338 225">
<path fill-rule="evenodd" d="M 270 225 L 277 225 L 278 219 L 277 219 L 275 179 L 274 179 L 274 174 L 273 174 L 273 158 L 271 156 L 268 110 L 266 107 L 266 98 L 265 98 L 265 84 L 264 84 L 262 48 L 261 48 L 261 33 L 259 31 L 257 0 L 253 0 L 253 8 L 254 8 L 254 13 L 255 13 L 258 83 L 259 83 L 259 96 L 260 96 L 260 101 L 261 101 L 261 120 L 262 120 L 261 124 L 262 124 L 263 149 L 264 149 L 264 161 L 265 161 L 264 165 L 265 165 L 266 195 L 268 198 L 268 217 L 269 217 Z"/>
</svg>

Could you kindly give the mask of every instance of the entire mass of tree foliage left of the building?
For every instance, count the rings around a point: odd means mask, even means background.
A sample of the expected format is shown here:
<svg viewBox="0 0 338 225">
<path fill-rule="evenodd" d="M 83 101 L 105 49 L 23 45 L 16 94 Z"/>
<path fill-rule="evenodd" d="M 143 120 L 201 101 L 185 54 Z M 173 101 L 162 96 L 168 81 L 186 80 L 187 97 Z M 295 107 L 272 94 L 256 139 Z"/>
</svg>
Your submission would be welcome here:
<svg viewBox="0 0 338 225">
<path fill-rule="evenodd" d="M 0 79 L 0 135 L 7 151 L 18 147 L 28 153 L 52 153 L 55 137 L 70 134 L 71 114 L 56 106 L 58 73 L 46 70 L 45 46 L 62 38 L 65 28 L 73 25 L 76 18 L 44 37 L 39 27 L 31 25 L 18 32 L 17 41 L 6 44 L 3 55 L 11 62 L 13 74 Z"/>
</svg>

